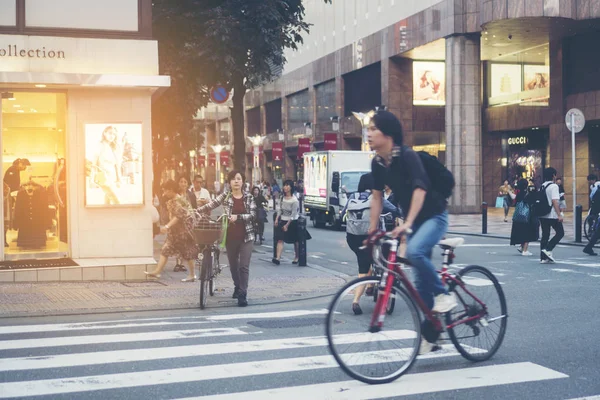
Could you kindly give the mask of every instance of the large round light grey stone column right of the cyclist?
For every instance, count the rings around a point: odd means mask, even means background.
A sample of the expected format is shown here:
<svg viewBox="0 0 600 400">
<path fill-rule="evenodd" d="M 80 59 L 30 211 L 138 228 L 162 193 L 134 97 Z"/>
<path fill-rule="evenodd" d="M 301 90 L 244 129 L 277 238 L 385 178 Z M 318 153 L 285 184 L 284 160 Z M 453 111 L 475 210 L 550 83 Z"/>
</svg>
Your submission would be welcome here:
<svg viewBox="0 0 600 400">
<path fill-rule="evenodd" d="M 481 209 L 481 56 L 479 34 L 446 38 L 446 165 L 456 187 L 453 213 Z"/>
</svg>

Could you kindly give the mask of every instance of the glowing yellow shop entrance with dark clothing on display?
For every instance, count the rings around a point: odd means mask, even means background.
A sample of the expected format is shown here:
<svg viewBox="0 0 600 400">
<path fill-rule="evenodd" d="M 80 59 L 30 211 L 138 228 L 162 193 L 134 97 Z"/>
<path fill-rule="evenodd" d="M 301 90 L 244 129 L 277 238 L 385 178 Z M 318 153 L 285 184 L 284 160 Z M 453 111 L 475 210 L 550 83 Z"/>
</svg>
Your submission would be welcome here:
<svg viewBox="0 0 600 400">
<path fill-rule="evenodd" d="M 1 92 L 3 259 L 68 257 L 66 95 Z"/>
</svg>

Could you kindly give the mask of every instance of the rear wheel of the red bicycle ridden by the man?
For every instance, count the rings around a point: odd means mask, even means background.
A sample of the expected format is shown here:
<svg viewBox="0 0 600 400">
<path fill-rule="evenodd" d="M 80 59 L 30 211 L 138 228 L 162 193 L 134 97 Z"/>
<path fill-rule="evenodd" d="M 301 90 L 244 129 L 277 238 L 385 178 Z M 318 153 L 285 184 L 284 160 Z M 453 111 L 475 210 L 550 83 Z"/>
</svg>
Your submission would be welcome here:
<svg viewBox="0 0 600 400">
<path fill-rule="evenodd" d="M 508 314 L 504 291 L 494 274 L 478 265 L 463 268 L 458 272 L 458 277 L 465 288 L 454 282 L 450 284 L 450 292 L 457 296 L 458 306 L 446 313 L 446 325 L 477 315 L 481 315 L 481 318 L 447 328 L 448 336 L 456 350 L 467 360 L 488 360 L 498 351 L 506 333 Z M 485 304 L 487 310 L 484 311 L 465 289 Z"/>
</svg>

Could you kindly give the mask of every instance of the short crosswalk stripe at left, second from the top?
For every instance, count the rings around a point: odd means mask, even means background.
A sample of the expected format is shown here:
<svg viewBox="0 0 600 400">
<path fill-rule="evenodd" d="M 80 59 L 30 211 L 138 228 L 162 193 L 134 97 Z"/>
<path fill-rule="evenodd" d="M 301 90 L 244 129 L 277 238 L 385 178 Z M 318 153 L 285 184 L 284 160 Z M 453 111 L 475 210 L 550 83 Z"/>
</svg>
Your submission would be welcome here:
<svg viewBox="0 0 600 400">
<path fill-rule="evenodd" d="M 35 349 L 40 347 L 77 346 L 107 343 L 160 341 L 173 339 L 192 339 L 210 336 L 231 335 L 247 335 L 247 333 L 237 328 L 213 328 L 165 332 L 125 333 L 116 335 L 92 335 L 40 339 L 2 340 L 0 341 L 0 350 Z"/>
</svg>

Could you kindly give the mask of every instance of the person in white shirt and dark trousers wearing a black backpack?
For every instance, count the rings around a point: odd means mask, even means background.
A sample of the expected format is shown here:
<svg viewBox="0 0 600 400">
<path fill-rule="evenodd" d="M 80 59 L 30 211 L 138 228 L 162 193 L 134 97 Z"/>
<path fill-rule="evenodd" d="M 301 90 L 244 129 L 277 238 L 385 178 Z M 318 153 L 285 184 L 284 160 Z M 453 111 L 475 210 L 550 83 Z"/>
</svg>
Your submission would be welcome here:
<svg viewBox="0 0 600 400">
<path fill-rule="evenodd" d="M 552 250 L 565 236 L 565 230 L 563 229 L 563 217 L 560 213 L 559 200 L 560 193 L 558 185 L 556 184 L 557 172 L 554 168 L 544 169 L 544 184 L 540 190 L 546 191 L 546 197 L 548 198 L 548 204 L 551 205 L 552 209 L 550 212 L 540 217 L 540 225 L 542 226 L 542 240 L 540 242 L 540 262 L 542 264 L 553 263 L 554 256 Z M 550 228 L 554 229 L 554 237 L 550 239 Z"/>
</svg>

